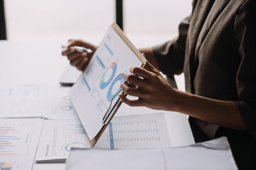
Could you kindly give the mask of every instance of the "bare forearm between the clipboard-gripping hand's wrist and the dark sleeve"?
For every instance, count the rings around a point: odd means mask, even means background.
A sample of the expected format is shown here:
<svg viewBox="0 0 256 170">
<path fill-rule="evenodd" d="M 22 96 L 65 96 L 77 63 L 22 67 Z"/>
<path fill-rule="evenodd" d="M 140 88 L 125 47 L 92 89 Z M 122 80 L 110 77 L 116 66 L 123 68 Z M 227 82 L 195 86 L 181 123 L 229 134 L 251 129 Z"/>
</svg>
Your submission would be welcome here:
<svg viewBox="0 0 256 170">
<path fill-rule="evenodd" d="M 246 130 L 235 101 L 219 101 L 182 91 L 177 93 L 174 103 L 175 111 L 225 128 Z"/>
</svg>

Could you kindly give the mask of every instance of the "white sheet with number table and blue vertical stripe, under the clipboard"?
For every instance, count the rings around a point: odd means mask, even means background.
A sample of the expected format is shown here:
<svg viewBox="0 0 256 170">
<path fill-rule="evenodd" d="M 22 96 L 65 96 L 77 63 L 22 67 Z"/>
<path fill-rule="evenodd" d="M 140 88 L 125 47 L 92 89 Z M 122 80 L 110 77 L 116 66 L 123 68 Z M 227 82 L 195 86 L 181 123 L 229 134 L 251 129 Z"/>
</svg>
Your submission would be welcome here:
<svg viewBox="0 0 256 170">
<path fill-rule="evenodd" d="M 114 117 L 95 147 L 111 149 L 171 147 L 164 113 Z"/>
</svg>

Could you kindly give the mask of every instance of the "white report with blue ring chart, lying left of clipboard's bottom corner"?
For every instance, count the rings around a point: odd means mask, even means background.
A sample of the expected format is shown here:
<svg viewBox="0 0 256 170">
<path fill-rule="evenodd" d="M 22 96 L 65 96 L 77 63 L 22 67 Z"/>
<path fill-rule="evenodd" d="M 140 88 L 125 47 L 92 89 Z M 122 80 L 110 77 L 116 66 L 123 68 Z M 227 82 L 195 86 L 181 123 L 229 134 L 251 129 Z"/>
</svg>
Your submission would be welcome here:
<svg viewBox="0 0 256 170">
<path fill-rule="evenodd" d="M 91 147 L 79 120 L 45 120 L 36 162 L 65 162 L 71 147 Z"/>
</svg>

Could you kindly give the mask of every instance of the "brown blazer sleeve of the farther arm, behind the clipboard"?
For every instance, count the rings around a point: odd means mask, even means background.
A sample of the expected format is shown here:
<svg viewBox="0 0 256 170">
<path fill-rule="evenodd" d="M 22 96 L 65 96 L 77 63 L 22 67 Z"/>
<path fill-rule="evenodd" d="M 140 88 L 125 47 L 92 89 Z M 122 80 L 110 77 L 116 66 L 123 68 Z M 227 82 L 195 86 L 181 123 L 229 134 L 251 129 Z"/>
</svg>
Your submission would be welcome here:
<svg viewBox="0 0 256 170">
<path fill-rule="evenodd" d="M 178 37 L 176 39 L 153 47 L 161 72 L 166 75 L 181 74 L 183 72 L 189 18 L 185 18 L 178 26 Z"/>
</svg>

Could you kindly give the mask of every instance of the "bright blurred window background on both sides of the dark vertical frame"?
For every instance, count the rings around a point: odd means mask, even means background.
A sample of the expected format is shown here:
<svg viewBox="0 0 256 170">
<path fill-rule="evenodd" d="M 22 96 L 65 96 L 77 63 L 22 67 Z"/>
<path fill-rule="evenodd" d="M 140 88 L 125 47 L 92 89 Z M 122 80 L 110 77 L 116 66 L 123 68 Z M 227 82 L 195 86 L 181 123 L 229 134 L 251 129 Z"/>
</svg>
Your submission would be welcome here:
<svg viewBox="0 0 256 170">
<path fill-rule="evenodd" d="M 123 0 L 124 32 L 140 47 L 174 38 L 178 23 L 191 13 L 191 2 Z M 99 43 L 116 21 L 116 3 L 115 0 L 4 1 L 7 39 L 66 42 L 69 38 L 80 38 Z"/>
</svg>

